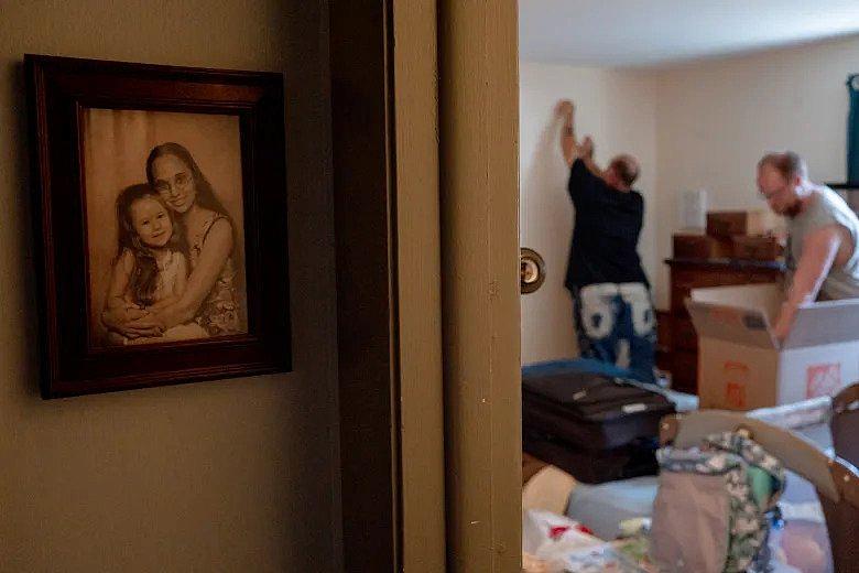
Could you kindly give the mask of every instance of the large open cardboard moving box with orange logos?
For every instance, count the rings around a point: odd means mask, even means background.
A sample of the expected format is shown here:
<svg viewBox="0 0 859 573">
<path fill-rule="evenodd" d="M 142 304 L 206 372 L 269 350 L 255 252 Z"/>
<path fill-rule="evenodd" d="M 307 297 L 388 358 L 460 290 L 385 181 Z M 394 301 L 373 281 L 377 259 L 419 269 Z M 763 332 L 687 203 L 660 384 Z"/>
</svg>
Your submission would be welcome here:
<svg viewBox="0 0 859 573">
<path fill-rule="evenodd" d="M 801 307 L 779 344 L 778 284 L 696 289 L 686 306 L 698 334 L 702 408 L 750 410 L 831 396 L 859 380 L 859 300 Z"/>
</svg>

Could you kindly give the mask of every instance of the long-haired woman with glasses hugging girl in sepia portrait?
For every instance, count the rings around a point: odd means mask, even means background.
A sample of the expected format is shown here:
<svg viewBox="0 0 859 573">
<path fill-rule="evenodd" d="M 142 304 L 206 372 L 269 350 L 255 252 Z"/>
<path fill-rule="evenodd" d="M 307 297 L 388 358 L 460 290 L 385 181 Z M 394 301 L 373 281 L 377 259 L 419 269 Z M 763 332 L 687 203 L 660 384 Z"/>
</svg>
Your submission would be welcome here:
<svg viewBox="0 0 859 573">
<path fill-rule="evenodd" d="M 191 274 L 177 300 L 160 309 L 106 307 L 102 322 L 127 338 L 161 336 L 191 321 L 209 336 L 241 332 L 236 289 L 232 220 L 188 150 L 178 143 L 155 147 L 146 179 L 175 215 L 188 246 Z"/>
</svg>

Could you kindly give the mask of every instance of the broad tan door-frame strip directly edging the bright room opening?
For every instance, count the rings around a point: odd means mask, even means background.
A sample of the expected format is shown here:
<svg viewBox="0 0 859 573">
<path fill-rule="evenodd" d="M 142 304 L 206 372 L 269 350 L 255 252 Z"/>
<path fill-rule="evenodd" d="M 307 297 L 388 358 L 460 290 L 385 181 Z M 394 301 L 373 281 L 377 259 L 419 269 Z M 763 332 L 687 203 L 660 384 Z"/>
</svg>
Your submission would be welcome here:
<svg viewBox="0 0 859 573">
<path fill-rule="evenodd" d="M 439 0 L 448 571 L 519 572 L 518 2 Z"/>
</svg>

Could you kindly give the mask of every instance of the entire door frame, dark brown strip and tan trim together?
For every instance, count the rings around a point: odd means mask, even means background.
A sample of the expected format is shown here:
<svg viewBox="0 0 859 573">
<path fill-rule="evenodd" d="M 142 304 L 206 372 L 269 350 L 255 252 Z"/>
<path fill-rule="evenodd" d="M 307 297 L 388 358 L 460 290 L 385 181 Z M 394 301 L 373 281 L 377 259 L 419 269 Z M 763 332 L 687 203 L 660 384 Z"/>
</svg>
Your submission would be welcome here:
<svg viewBox="0 0 859 573">
<path fill-rule="evenodd" d="M 521 565 L 517 3 L 501 4 L 329 3 L 346 571 Z"/>
</svg>

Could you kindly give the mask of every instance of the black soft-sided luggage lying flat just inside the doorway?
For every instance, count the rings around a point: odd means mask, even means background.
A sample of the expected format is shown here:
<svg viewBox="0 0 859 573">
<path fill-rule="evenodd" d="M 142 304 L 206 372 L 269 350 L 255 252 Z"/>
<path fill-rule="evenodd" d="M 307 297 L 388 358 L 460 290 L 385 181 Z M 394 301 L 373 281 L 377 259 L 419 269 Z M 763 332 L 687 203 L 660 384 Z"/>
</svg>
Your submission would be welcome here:
<svg viewBox="0 0 859 573">
<path fill-rule="evenodd" d="M 638 382 L 569 368 L 525 368 L 523 447 L 585 483 L 656 474 L 659 423 L 675 412 Z"/>
</svg>

